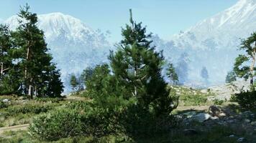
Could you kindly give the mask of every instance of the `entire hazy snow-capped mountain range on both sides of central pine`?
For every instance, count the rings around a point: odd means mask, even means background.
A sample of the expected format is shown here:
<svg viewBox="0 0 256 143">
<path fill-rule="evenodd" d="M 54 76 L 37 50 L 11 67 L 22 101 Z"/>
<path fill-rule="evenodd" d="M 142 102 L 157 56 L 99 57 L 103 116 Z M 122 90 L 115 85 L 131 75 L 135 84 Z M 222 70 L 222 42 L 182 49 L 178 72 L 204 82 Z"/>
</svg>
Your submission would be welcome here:
<svg viewBox="0 0 256 143">
<path fill-rule="evenodd" d="M 107 62 L 109 50 L 114 49 L 114 44 L 106 39 L 107 32 L 91 29 L 73 16 L 51 13 L 38 15 L 38 19 L 54 62 L 61 69 L 65 92 L 70 92 L 70 74 L 79 74 L 86 66 Z M 18 26 L 17 16 L 2 22 L 9 24 L 12 30 Z M 203 66 L 209 71 L 209 84 L 224 82 L 239 54 L 240 39 L 253 31 L 256 31 L 256 0 L 239 0 L 229 9 L 199 21 L 167 41 L 157 34 L 152 39 L 157 50 L 163 50 L 165 59 L 174 64 L 186 52 L 189 74 L 185 84 L 200 87 L 205 84 L 200 77 Z"/>
</svg>

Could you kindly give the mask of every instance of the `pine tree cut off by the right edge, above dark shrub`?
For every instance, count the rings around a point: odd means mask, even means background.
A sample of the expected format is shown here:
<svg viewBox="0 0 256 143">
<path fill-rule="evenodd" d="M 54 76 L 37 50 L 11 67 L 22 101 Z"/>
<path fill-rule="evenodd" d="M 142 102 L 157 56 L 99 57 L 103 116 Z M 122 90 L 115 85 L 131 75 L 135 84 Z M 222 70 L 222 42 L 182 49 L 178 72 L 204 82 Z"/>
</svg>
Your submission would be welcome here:
<svg viewBox="0 0 256 143">
<path fill-rule="evenodd" d="M 250 78 L 250 84 L 253 85 L 256 76 L 256 32 L 247 39 L 243 39 L 239 49 L 244 50 L 245 54 L 239 54 L 235 60 L 234 72 L 244 79 Z"/>
</svg>

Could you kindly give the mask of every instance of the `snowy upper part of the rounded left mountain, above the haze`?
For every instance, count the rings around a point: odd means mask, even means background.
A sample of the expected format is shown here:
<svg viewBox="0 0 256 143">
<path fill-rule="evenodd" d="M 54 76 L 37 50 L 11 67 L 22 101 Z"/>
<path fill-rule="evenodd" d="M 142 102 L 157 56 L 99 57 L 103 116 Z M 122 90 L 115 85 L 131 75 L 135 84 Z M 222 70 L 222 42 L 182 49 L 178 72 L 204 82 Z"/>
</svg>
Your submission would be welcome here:
<svg viewBox="0 0 256 143">
<path fill-rule="evenodd" d="M 14 30 L 19 24 L 18 18 L 18 16 L 11 16 L 5 23 Z M 93 43 L 98 46 L 100 46 L 99 44 L 108 44 L 102 33 L 93 31 L 80 19 L 60 12 L 38 15 L 38 26 L 45 31 L 48 42 L 65 38 L 77 44 L 88 45 L 88 39 L 90 39 L 90 44 Z"/>
</svg>

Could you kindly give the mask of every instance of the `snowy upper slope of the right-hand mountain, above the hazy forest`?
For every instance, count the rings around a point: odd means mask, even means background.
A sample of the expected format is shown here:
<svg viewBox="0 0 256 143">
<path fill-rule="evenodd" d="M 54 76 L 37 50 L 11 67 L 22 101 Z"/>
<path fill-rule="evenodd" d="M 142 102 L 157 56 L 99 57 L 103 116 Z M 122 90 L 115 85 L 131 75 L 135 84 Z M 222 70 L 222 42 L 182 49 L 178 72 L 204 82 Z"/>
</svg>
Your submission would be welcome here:
<svg viewBox="0 0 256 143">
<path fill-rule="evenodd" d="M 173 36 L 175 46 L 193 49 L 233 48 L 256 30 L 256 0 L 239 0 L 219 14 Z M 233 46 L 233 47 L 232 47 Z"/>
</svg>

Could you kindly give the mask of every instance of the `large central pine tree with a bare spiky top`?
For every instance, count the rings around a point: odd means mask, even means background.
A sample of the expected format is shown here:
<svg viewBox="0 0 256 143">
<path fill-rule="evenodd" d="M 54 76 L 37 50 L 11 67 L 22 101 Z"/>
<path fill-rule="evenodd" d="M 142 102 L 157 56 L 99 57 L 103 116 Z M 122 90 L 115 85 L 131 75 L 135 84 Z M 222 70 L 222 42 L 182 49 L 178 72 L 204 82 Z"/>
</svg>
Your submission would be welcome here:
<svg viewBox="0 0 256 143">
<path fill-rule="evenodd" d="M 152 105 L 157 114 L 170 112 L 172 101 L 161 76 L 163 54 L 151 46 L 151 34 L 146 34 L 142 23 L 133 21 L 131 10 L 130 24 L 122 29 L 122 36 L 117 51 L 111 51 L 109 56 L 114 77 L 126 87 L 129 97 L 137 98 L 142 108 L 149 109 Z"/>
</svg>

